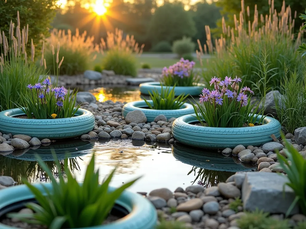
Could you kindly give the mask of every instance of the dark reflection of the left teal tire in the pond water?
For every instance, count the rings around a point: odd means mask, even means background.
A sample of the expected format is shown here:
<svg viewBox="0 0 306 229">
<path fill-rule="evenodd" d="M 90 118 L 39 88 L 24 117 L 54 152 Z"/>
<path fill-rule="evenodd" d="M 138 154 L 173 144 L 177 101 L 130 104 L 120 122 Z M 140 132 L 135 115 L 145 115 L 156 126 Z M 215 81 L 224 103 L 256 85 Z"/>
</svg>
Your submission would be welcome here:
<svg viewBox="0 0 306 229">
<path fill-rule="evenodd" d="M 13 153 L 4 155 L 8 158 L 23 160 L 23 161 L 37 161 L 36 154 L 38 154 L 43 161 L 54 161 L 51 149 L 54 149 L 58 160 L 64 160 L 68 153 L 68 158 L 81 157 L 92 152 L 95 143 L 88 141 L 74 141 L 73 143 L 52 143 L 49 146 L 41 145 L 38 149 L 29 149 L 24 154 L 18 154 L 15 150 Z M 31 147 L 30 147 L 31 148 Z M 16 152 L 17 151 L 17 152 Z"/>
</svg>

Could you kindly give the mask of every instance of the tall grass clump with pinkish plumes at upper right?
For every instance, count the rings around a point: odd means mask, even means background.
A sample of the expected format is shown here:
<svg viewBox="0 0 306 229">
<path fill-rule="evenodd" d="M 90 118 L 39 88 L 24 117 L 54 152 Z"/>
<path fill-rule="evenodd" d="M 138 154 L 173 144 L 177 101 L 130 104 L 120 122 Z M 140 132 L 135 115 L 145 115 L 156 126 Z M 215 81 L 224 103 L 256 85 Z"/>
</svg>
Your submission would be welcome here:
<svg viewBox="0 0 306 229">
<path fill-rule="evenodd" d="M 272 1 L 273 2 L 273 1 Z M 258 82 L 259 76 L 256 74 L 259 68 L 261 53 L 268 52 L 267 62 L 271 63 L 268 78 L 271 80 L 269 87 L 278 88 L 284 75 L 284 65 L 287 64 L 291 69 L 299 70 L 303 67 L 302 58 L 295 50 L 301 42 L 304 30 L 294 36 L 294 20 L 291 15 L 290 6 L 282 6 L 281 13 L 274 10 L 274 5 L 270 1 L 270 15 L 258 14 L 255 5 L 254 20 L 251 22 L 249 8 L 243 6 L 239 17 L 234 15 L 234 27 L 226 26 L 225 19 L 222 18 L 222 35 L 215 40 L 213 45 L 211 31 L 205 27 L 207 44 L 204 51 L 199 43 L 200 51 L 198 59 L 202 63 L 203 53 L 213 54 L 215 58 L 210 58 L 207 64 L 207 71 L 203 71 L 203 78 L 206 83 L 212 75 L 227 75 L 233 77 L 240 76 L 250 82 Z M 252 17 L 253 18 L 253 17 Z"/>
</svg>

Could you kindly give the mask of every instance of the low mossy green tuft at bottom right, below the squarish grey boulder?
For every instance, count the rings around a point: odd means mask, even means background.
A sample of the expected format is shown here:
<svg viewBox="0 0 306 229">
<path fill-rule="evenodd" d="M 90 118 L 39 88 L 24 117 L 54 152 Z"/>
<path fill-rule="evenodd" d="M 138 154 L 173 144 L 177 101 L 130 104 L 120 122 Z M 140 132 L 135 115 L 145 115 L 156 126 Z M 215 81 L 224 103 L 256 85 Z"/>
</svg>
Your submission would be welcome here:
<svg viewBox="0 0 306 229">
<path fill-rule="evenodd" d="M 278 220 L 268 216 L 269 213 L 264 213 L 258 209 L 254 212 L 246 212 L 244 216 L 237 219 L 238 227 L 241 229 L 288 229 L 288 220 Z"/>
</svg>

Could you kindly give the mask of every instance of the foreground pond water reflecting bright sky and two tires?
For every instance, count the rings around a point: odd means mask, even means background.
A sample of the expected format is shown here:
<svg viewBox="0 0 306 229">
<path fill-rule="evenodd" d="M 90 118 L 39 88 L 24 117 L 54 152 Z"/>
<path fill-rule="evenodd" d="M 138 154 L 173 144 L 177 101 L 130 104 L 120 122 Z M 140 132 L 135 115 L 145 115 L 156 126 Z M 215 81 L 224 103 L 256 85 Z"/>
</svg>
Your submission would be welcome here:
<svg viewBox="0 0 306 229">
<path fill-rule="evenodd" d="M 69 167 L 76 179 L 84 179 L 86 166 L 92 154 L 96 154 L 96 169 L 103 178 L 117 167 L 111 185 L 118 187 L 123 182 L 141 178 L 129 188 L 131 191 L 149 192 L 156 188 L 187 187 L 201 182 L 210 187 L 224 182 L 237 171 L 252 170 L 249 163 L 242 163 L 237 157 L 223 155 L 217 151 L 201 150 L 182 144 L 151 144 L 132 140 L 65 140 L 51 143 L 28 151 L 14 151 L 9 155 L 0 155 L 0 174 L 12 176 L 18 183 L 21 177 L 31 182 L 49 182 L 46 174 L 38 166 L 35 156 L 39 155 L 58 176 L 52 151 L 55 151 L 63 166 L 65 153 L 69 152 Z"/>
</svg>

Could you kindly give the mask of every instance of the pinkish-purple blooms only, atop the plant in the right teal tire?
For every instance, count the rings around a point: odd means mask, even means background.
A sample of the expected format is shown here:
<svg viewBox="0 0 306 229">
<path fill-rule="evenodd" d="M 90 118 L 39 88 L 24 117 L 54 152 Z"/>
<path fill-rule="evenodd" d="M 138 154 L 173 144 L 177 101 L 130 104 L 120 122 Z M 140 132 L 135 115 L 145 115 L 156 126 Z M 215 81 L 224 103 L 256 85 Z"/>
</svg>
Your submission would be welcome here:
<svg viewBox="0 0 306 229">
<path fill-rule="evenodd" d="M 241 107 L 244 107 L 248 104 L 248 96 L 246 92 L 254 94 L 254 92 L 248 88 L 243 87 L 239 94 L 239 82 L 242 82 L 241 78 L 231 78 L 225 77 L 224 80 L 221 81 L 221 78 L 213 77 L 209 82 L 210 85 L 214 84 L 215 90 L 209 91 L 207 88 L 202 90 L 202 95 L 200 95 L 200 103 L 202 102 L 210 102 L 218 105 L 222 105 L 224 99 L 229 99 L 230 101 L 236 100 L 240 103 Z M 233 90 L 231 90 L 232 88 Z"/>
</svg>

